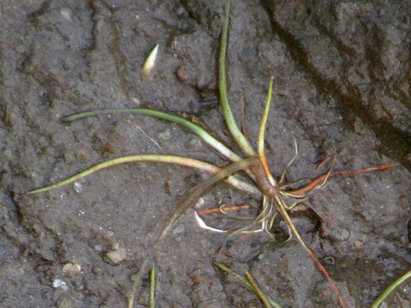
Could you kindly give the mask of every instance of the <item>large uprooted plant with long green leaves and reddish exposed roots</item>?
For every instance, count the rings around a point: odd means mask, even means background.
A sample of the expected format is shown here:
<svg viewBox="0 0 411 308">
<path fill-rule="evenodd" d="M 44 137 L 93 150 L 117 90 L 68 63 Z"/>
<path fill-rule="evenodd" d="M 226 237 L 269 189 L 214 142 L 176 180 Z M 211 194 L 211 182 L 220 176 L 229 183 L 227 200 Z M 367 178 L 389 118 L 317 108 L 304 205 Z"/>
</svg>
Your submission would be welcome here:
<svg viewBox="0 0 411 308">
<path fill-rule="evenodd" d="M 289 238 L 292 235 L 297 238 L 301 246 L 307 251 L 308 255 L 314 261 L 316 267 L 321 271 L 321 273 L 326 277 L 327 281 L 329 281 L 330 285 L 332 286 L 337 298 L 338 302 L 340 303 L 341 307 L 344 307 L 343 299 L 341 298 L 336 286 L 334 285 L 332 279 L 329 277 L 329 274 L 319 262 L 319 260 L 315 257 L 314 253 L 310 251 L 310 248 L 303 242 L 301 239 L 297 229 L 295 229 L 294 224 L 288 215 L 288 211 L 305 203 L 304 198 L 305 196 L 318 188 L 319 186 L 323 185 L 327 179 L 336 176 L 348 176 L 348 175 L 357 175 L 360 173 L 371 172 L 374 170 L 385 170 L 387 168 L 391 168 L 395 166 L 395 164 L 384 164 L 375 166 L 374 168 L 364 168 L 355 171 L 334 171 L 333 168 L 330 168 L 328 172 L 325 174 L 316 177 L 315 179 L 311 179 L 306 185 L 300 186 L 299 188 L 292 189 L 296 183 L 300 181 L 295 181 L 293 183 L 283 184 L 284 183 L 284 175 L 285 171 L 282 173 L 281 177 L 277 181 L 269 170 L 269 166 L 266 161 L 266 155 L 264 153 L 264 131 L 266 129 L 266 121 L 269 115 L 269 107 L 271 102 L 271 93 L 273 90 L 273 77 L 269 82 L 269 91 L 266 99 L 266 105 L 264 108 L 264 114 L 262 116 L 262 123 L 260 125 L 260 132 L 258 134 L 258 153 L 256 153 L 245 137 L 245 135 L 240 131 L 238 126 L 236 125 L 236 121 L 234 120 L 234 116 L 232 114 L 232 110 L 228 103 L 228 95 L 227 95 L 227 83 L 225 80 L 225 55 L 227 51 L 227 31 L 229 26 L 229 9 L 231 3 L 228 3 L 225 10 L 225 22 L 223 25 L 223 31 L 221 34 L 221 47 L 220 47 L 220 54 L 219 54 L 219 91 L 220 91 L 220 103 L 221 108 L 223 110 L 223 116 L 225 118 L 225 122 L 227 123 L 227 127 L 234 138 L 238 148 L 243 153 L 244 157 L 234 153 L 231 149 L 225 146 L 223 143 L 216 140 L 214 137 L 210 135 L 205 129 L 200 127 L 199 125 L 186 120 L 180 116 L 175 116 L 173 114 L 168 114 L 166 112 L 161 112 L 157 110 L 149 110 L 144 108 L 134 108 L 134 109 L 109 109 L 109 110 L 97 110 L 91 112 L 82 112 L 79 114 L 73 114 L 71 116 L 66 116 L 62 118 L 64 122 L 71 122 L 73 120 L 77 120 L 79 118 L 86 118 L 88 116 L 97 116 L 97 115 L 104 115 L 104 114 L 142 114 L 145 116 L 153 116 L 155 118 L 160 118 L 163 120 L 169 120 L 173 123 L 177 123 L 182 127 L 196 133 L 200 136 L 208 145 L 212 146 L 216 151 L 219 151 L 224 157 L 229 159 L 233 162 L 229 166 L 225 168 L 220 168 L 218 166 L 214 166 L 212 164 L 208 164 L 206 162 L 199 161 L 197 159 L 191 159 L 186 157 L 179 157 L 175 155 L 132 155 L 132 156 L 125 156 L 119 157 L 116 159 L 111 159 L 107 162 L 102 162 L 95 166 L 92 166 L 88 170 L 78 173 L 73 177 L 69 177 L 68 179 L 61 181 L 60 183 L 55 183 L 53 185 L 49 185 L 44 188 L 38 188 L 36 190 L 32 190 L 29 194 L 34 194 L 38 192 L 45 192 L 47 190 L 59 188 L 62 185 L 66 185 L 67 183 L 71 183 L 85 177 L 86 175 L 90 175 L 92 172 L 96 172 L 103 168 L 107 168 L 109 166 L 113 166 L 116 164 L 123 164 L 127 162 L 164 162 L 169 164 L 179 164 L 182 166 L 187 166 L 190 168 L 197 168 L 200 170 L 204 170 L 209 172 L 212 175 L 203 183 L 197 185 L 197 187 L 190 192 L 180 203 L 175 207 L 173 210 L 169 220 L 166 222 L 166 225 L 160 232 L 158 239 L 155 241 L 153 248 L 155 248 L 160 240 L 164 238 L 164 236 L 169 233 L 169 230 L 173 227 L 173 224 L 182 216 L 188 209 L 195 207 L 197 201 L 203 194 L 208 192 L 212 186 L 214 186 L 219 181 L 225 181 L 225 183 L 232 185 L 232 187 L 237 188 L 238 190 L 242 190 L 245 192 L 249 192 L 256 196 L 262 196 L 262 206 L 260 209 L 260 214 L 256 217 L 254 222 L 251 226 L 255 224 L 261 224 L 261 229 L 248 231 L 248 232 L 256 232 L 256 231 L 266 231 L 267 233 L 273 234 L 270 232 L 271 227 L 273 225 L 273 220 L 277 213 L 282 216 L 282 219 L 286 223 L 288 227 Z M 297 157 L 297 142 L 295 142 L 295 157 Z M 295 157 L 290 161 L 288 166 L 292 163 Z M 334 165 L 334 163 L 333 163 Z M 288 167 L 287 166 L 287 167 Z M 286 168 L 287 168 L 286 167 Z M 241 181 L 236 175 L 234 175 L 238 171 L 244 171 L 247 176 L 253 181 L 254 185 Z M 295 198 L 296 201 L 292 205 L 287 205 L 284 201 L 284 198 Z M 250 226 L 250 227 L 251 227 Z M 238 232 L 249 230 L 250 228 L 247 227 L 245 229 L 240 229 Z M 145 267 L 148 264 L 148 260 L 143 263 L 140 268 L 140 273 L 137 275 L 140 277 L 144 274 Z M 134 291 L 136 291 L 138 281 L 134 284 Z M 134 293 L 134 292 L 133 292 Z M 134 294 L 130 296 L 129 305 L 132 305 L 132 301 L 134 298 Z"/>
</svg>

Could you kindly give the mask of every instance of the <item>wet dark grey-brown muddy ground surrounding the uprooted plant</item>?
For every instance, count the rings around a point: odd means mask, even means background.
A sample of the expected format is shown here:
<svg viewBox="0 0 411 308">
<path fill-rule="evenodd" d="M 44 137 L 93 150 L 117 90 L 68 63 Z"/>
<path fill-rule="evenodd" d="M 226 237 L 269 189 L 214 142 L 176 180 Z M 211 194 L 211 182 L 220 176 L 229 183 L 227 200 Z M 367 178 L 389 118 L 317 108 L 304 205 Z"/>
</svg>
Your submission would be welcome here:
<svg viewBox="0 0 411 308">
<path fill-rule="evenodd" d="M 385 172 L 330 179 L 293 222 L 347 307 L 367 307 L 410 270 L 411 90 L 409 1 L 234 1 L 227 68 L 234 116 L 256 144 L 269 77 L 266 151 L 278 177 L 398 162 Z M 234 147 L 221 117 L 216 59 L 221 1 L 2 1 L 0 4 L 0 306 L 126 307 L 147 248 L 178 201 L 208 175 L 128 164 L 51 192 L 55 183 L 121 155 L 171 153 L 223 166 L 199 137 L 144 116 L 62 123 L 79 111 L 155 107 L 195 116 Z M 160 44 L 151 79 L 145 58 Z M 241 98 L 244 98 L 242 114 Z M 134 124 L 133 124 L 134 123 Z M 160 148 L 145 136 L 158 142 Z M 258 205 L 217 185 L 201 208 Z M 244 215 L 256 214 L 251 209 Z M 238 227 L 224 216 L 213 226 Z M 248 222 L 242 222 L 248 223 Z M 282 236 L 279 224 L 276 232 Z M 296 240 L 200 229 L 192 211 L 155 253 L 158 307 L 261 307 L 212 265 L 249 270 L 283 307 L 334 307 L 334 295 Z M 119 253 L 112 264 L 108 253 Z M 148 277 L 134 307 L 148 305 Z M 411 282 L 387 300 L 409 307 Z"/>
</svg>

